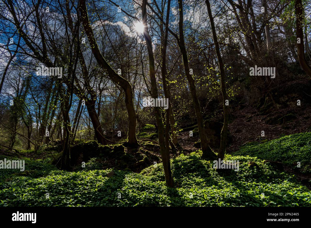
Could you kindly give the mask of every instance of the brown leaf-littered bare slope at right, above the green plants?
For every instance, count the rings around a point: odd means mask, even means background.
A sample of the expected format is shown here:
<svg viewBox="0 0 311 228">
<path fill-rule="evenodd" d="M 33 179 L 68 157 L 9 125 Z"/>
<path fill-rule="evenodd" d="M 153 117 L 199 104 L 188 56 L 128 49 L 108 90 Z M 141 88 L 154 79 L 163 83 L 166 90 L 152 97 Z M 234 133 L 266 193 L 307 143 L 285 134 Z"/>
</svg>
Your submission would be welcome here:
<svg viewBox="0 0 311 228">
<path fill-rule="evenodd" d="M 290 113 L 291 108 L 279 110 L 281 113 Z M 227 153 L 233 153 L 239 147 L 248 142 L 261 142 L 262 140 L 270 141 L 285 135 L 291 135 L 300 132 L 308 132 L 311 130 L 311 107 L 296 111 L 298 118 L 281 124 L 268 124 L 267 119 L 276 113 L 259 115 L 258 111 L 253 107 L 246 107 L 231 113 L 235 116 L 233 121 L 228 125 L 232 141 L 226 148 Z M 261 131 L 265 132 L 265 136 L 261 136 Z M 189 137 L 189 132 L 180 132 L 178 140 L 183 149 L 194 151 L 197 148 L 194 143 L 199 140 L 198 136 Z M 217 148 L 213 148 L 217 150 Z"/>
</svg>

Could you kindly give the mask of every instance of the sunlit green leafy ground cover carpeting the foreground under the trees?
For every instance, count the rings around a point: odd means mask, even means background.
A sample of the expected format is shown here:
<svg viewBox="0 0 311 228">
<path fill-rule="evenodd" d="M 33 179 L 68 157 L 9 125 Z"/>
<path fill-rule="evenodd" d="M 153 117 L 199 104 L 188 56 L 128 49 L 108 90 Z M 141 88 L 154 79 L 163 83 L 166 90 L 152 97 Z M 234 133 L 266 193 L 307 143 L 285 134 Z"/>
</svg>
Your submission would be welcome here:
<svg viewBox="0 0 311 228">
<path fill-rule="evenodd" d="M 310 134 L 296 134 L 283 141 L 297 144 L 297 139 L 304 136 L 310 138 Z M 286 145 L 279 144 L 280 149 Z M 309 189 L 262 159 L 226 155 L 226 160 L 239 161 L 238 172 L 229 169 L 218 173 L 211 161 L 200 159 L 201 155 L 196 151 L 171 160 L 174 188 L 165 186 L 162 163 L 136 173 L 101 169 L 99 162 L 91 159 L 83 170 L 68 172 L 25 158 L 24 172 L 7 169 L 0 173 L 0 206 L 311 205 Z M 249 161 L 256 166 L 249 165 Z"/>
</svg>

